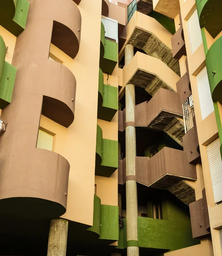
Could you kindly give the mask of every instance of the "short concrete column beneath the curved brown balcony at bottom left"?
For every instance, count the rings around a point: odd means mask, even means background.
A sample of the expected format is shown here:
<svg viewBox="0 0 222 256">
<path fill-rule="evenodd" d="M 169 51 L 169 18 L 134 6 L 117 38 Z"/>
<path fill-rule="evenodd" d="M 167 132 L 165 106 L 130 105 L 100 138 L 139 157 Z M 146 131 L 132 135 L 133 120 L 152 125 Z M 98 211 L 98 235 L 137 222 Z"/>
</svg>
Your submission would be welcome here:
<svg viewBox="0 0 222 256">
<path fill-rule="evenodd" d="M 53 219 L 50 223 L 47 256 L 66 256 L 68 221 Z"/>
</svg>

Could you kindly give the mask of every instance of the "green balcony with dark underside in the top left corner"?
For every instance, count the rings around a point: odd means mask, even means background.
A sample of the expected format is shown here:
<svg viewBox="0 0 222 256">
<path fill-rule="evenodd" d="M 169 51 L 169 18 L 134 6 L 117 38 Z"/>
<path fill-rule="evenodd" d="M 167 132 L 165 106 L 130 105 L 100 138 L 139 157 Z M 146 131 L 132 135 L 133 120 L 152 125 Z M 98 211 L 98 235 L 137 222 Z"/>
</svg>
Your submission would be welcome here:
<svg viewBox="0 0 222 256">
<path fill-rule="evenodd" d="M 0 0 L 0 25 L 18 36 L 26 26 L 28 0 Z"/>
</svg>

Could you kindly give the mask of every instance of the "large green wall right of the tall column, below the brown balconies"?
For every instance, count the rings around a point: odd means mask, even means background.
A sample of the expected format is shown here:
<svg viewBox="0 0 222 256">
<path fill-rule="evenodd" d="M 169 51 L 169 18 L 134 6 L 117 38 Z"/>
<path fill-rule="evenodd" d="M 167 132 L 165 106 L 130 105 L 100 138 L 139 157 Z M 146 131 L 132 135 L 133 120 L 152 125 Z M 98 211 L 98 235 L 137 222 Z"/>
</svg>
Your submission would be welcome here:
<svg viewBox="0 0 222 256">
<path fill-rule="evenodd" d="M 163 202 L 162 208 L 168 220 L 138 217 L 139 247 L 178 250 L 199 244 L 192 237 L 188 211 L 169 200 Z"/>
</svg>

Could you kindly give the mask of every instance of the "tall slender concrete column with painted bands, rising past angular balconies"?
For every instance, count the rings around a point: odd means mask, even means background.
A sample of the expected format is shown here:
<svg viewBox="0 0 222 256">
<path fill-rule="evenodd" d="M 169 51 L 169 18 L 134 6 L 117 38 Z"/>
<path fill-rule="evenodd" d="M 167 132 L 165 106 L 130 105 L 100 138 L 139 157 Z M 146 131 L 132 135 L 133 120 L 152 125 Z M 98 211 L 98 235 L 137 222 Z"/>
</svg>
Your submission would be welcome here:
<svg viewBox="0 0 222 256">
<path fill-rule="evenodd" d="M 133 46 L 125 47 L 125 65 L 133 58 Z M 127 84 L 126 96 L 126 204 L 127 204 L 127 256 L 138 256 L 137 186 L 136 186 L 136 129 L 134 120 L 135 86 Z"/>
</svg>

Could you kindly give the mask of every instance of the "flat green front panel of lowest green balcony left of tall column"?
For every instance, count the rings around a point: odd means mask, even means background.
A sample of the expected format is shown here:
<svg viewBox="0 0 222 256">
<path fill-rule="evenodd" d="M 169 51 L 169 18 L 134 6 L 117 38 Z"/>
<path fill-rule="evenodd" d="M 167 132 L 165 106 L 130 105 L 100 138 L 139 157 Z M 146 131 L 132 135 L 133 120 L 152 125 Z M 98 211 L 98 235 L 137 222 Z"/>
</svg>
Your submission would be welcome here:
<svg viewBox="0 0 222 256">
<path fill-rule="evenodd" d="M 100 239 L 119 239 L 118 206 L 101 205 Z"/>
</svg>

